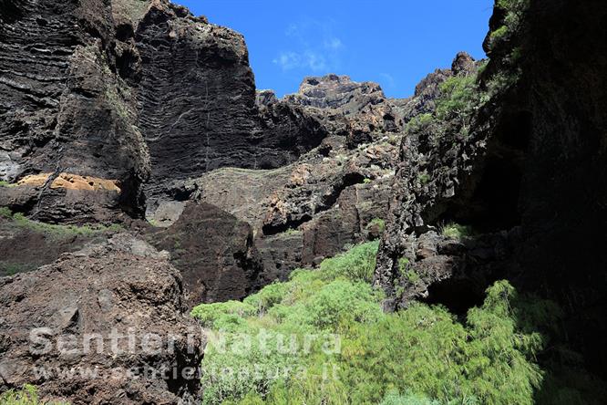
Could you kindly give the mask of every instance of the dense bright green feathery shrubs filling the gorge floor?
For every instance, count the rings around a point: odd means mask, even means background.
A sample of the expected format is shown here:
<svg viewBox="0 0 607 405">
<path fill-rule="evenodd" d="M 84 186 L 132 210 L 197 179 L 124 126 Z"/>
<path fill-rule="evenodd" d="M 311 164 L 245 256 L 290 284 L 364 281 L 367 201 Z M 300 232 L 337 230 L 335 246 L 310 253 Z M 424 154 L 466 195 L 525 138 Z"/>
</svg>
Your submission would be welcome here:
<svg viewBox="0 0 607 405">
<path fill-rule="evenodd" d="M 296 270 L 244 302 L 194 308 L 213 331 L 203 403 L 534 403 L 547 345 L 538 331 L 556 324 L 554 304 L 500 281 L 462 321 L 416 303 L 385 314 L 367 283 L 376 249 Z"/>
</svg>

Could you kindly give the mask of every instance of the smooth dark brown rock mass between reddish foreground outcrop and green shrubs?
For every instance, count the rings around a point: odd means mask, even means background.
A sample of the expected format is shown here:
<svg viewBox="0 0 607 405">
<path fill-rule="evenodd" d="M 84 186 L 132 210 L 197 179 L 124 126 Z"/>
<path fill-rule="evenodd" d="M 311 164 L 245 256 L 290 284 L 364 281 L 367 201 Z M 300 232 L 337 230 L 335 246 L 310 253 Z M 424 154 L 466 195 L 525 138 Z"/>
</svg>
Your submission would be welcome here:
<svg viewBox="0 0 607 405">
<path fill-rule="evenodd" d="M 251 225 L 211 204 L 188 203 L 176 223 L 147 239 L 170 252 L 189 306 L 242 299 L 258 287 L 262 264 Z"/>
</svg>

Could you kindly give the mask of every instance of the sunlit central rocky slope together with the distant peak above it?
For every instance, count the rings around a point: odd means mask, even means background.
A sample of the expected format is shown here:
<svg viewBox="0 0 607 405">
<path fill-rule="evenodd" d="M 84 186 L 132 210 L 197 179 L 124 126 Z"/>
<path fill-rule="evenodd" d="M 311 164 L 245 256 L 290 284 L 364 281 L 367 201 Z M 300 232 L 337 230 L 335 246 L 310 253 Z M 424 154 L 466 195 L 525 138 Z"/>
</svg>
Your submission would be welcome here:
<svg viewBox="0 0 607 405">
<path fill-rule="evenodd" d="M 262 110 L 301 109 L 328 136 L 282 168 L 212 171 L 185 189 L 252 224 L 263 285 L 379 236 L 401 132 L 381 88 L 347 77 L 305 78 L 296 94 L 278 100 L 265 91 L 258 100 Z"/>
</svg>

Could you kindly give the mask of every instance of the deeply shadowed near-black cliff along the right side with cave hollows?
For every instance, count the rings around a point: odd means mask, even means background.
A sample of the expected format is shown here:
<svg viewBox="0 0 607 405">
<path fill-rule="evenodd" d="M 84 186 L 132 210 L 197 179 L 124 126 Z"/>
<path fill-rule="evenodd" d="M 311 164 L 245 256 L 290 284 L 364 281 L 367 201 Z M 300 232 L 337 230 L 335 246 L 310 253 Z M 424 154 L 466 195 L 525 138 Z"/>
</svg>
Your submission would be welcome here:
<svg viewBox="0 0 607 405">
<path fill-rule="evenodd" d="M 396 300 L 401 306 L 413 297 L 448 304 L 468 294 L 462 281 L 478 291 L 495 277 L 541 291 L 565 308 L 568 343 L 600 374 L 607 257 L 597 243 L 607 223 L 607 154 L 606 117 L 597 106 L 606 99 L 607 48 L 596 38 L 604 37 L 606 13 L 599 1 L 531 2 L 517 32 L 502 42 L 488 36 L 491 60 L 479 83 L 489 99 L 469 117 L 467 136 L 455 122 L 429 122 L 403 142 L 397 203 L 376 269 L 377 284 L 390 293 L 399 258 L 420 275 Z M 496 11 L 492 31 L 504 16 Z M 450 246 L 432 232 L 447 221 L 479 234 Z M 478 246 L 481 258 L 470 260 Z M 500 269 L 491 274 L 488 266 Z"/>
</svg>

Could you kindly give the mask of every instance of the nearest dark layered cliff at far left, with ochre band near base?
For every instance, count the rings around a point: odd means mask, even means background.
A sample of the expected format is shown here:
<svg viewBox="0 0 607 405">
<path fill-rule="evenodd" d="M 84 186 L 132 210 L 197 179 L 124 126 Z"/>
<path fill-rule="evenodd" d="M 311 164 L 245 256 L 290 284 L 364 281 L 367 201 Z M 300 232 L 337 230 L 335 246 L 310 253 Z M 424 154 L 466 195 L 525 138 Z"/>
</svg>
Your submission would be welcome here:
<svg viewBox="0 0 607 405">
<path fill-rule="evenodd" d="M 117 181 L 123 189 L 93 196 L 49 192 L 49 184 L 32 192 L 26 185 L 23 194 L 13 191 L 13 207 L 69 222 L 140 213 L 149 158 L 133 125 L 135 99 L 116 72 L 110 5 L 5 1 L 0 20 L 0 179 L 66 172 Z M 81 213 L 91 196 L 108 210 Z"/>
</svg>

